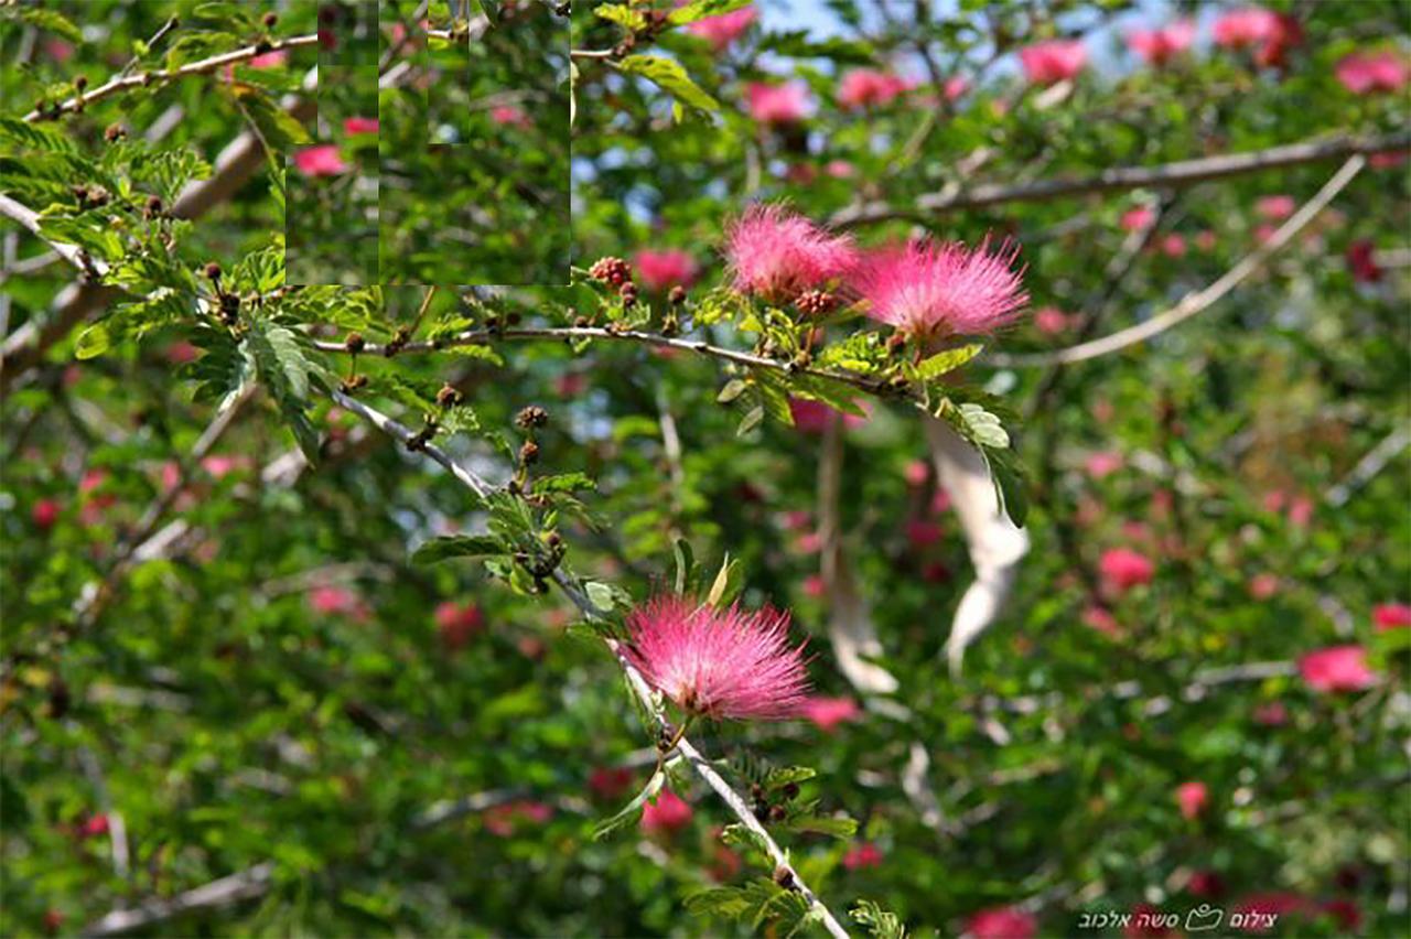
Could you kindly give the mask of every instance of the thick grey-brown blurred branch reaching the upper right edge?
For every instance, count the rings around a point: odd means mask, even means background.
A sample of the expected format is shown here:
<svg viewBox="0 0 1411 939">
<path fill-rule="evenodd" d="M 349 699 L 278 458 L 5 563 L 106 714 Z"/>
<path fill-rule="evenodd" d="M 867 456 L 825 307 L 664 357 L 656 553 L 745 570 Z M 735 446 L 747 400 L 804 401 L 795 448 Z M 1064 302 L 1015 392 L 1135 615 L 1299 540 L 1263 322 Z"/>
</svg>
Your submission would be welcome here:
<svg viewBox="0 0 1411 939">
<path fill-rule="evenodd" d="M 1098 192 L 1113 192 L 1143 188 L 1191 186 L 1226 176 L 1240 176 L 1298 166 L 1325 159 L 1377 154 L 1411 147 L 1411 131 L 1383 134 L 1380 137 L 1352 138 L 1336 137 L 1322 141 L 1304 141 L 1270 147 L 1246 154 L 1225 154 L 1182 159 L 1160 166 L 1118 166 L 1105 169 L 1095 176 L 1040 179 L 1031 183 L 985 183 L 958 192 L 928 193 L 916 199 L 912 206 L 893 206 L 888 202 L 869 202 L 842 209 L 830 220 L 834 226 L 849 227 L 875 224 L 895 219 L 916 219 L 962 209 L 981 209 L 1007 202 L 1046 202 L 1064 196 L 1079 196 Z"/>
</svg>

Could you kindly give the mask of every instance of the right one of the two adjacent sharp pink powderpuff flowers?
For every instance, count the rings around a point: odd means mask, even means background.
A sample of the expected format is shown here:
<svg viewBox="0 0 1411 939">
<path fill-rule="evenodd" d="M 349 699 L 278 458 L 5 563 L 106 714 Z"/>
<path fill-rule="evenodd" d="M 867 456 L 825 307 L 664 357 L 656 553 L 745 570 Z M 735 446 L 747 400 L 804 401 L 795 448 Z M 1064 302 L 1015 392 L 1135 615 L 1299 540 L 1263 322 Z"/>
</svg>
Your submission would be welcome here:
<svg viewBox="0 0 1411 939">
<path fill-rule="evenodd" d="M 861 266 L 856 288 L 866 314 L 919 337 L 982 336 L 1013 323 L 1029 303 L 1019 247 L 995 252 L 986 238 L 971 251 L 959 243 L 912 241 L 875 252 Z"/>
</svg>

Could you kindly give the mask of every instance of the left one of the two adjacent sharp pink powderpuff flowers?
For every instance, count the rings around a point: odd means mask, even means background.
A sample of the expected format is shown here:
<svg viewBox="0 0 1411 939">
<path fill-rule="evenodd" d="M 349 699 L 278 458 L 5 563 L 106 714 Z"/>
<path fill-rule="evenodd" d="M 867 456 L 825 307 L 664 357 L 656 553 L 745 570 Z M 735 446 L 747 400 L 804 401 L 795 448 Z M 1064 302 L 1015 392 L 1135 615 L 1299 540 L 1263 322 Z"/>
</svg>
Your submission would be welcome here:
<svg viewBox="0 0 1411 939">
<path fill-rule="evenodd" d="M 841 278 L 858 262 L 849 235 L 834 235 L 782 206 L 751 206 L 725 228 L 734 286 L 770 303 Z"/>
</svg>

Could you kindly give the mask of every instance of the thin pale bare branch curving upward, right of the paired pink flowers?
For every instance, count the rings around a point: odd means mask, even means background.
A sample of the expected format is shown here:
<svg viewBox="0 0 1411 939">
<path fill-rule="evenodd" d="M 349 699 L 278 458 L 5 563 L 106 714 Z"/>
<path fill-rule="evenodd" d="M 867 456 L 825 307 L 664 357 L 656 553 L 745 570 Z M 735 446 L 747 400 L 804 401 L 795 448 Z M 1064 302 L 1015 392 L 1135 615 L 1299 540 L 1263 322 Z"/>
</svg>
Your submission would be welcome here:
<svg viewBox="0 0 1411 939">
<path fill-rule="evenodd" d="M 1187 293 L 1181 297 L 1181 302 L 1170 310 L 1153 316 L 1143 323 L 1137 323 L 1136 326 L 1130 326 L 1125 330 L 1118 330 L 1110 336 L 1103 336 L 1102 338 L 1096 338 L 1089 343 L 1079 343 L 1078 345 L 1061 348 L 1054 352 L 1037 352 L 1033 355 L 991 355 L 989 364 L 1003 368 L 1070 365 L 1072 362 L 1082 362 L 1089 358 L 1098 358 L 1099 355 L 1116 352 L 1129 345 L 1136 345 L 1137 343 L 1144 343 L 1173 326 L 1184 323 L 1192 316 L 1209 309 L 1216 300 L 1233 290 L 1245 278 L 1263 266 L 1263 264 L 1273 257 L 1276 251 L 1288 244 L 1288 241 L 1298 234 L 1304 226 L 1312 221 L 1314 217 L 1322 211 L 1328 203 L 1331 203 L 1333 197 L 1352 182 L 1353 176 L 1362 172 L 1362 168 L 1366 165 L 1366 156 L 1360 154 L 1352 156 L 1326 183 L 1324 183 L 1324 188 L 1319 189 L 1312 199 L 1304 203 L 1302 207 L 1288 219 L 1288 221 L 1280 226 L 1278 231 L 1270 235 L 1268 241 L 1240 258 L 1233 268 L 1226 271 L 1216 281 L 1199 290 Z"/>
</svg>

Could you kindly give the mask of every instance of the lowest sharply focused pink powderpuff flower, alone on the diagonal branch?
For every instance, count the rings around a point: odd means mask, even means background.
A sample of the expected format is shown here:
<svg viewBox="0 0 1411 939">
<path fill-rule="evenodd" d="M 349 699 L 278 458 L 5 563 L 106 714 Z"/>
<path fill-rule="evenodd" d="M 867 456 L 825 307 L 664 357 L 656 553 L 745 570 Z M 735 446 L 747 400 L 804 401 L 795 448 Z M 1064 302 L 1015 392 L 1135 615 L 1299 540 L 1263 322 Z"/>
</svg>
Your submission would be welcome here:
<svg viewBox="0 0 1411 939">
<path fill-rule="evenodd" d="M 782 720 L 809 691 L 803 644 L 789 646 L 789 613 L 694 605 L 662 595 L 626 618 L 625 656 L 649 685 L 697 716 Z"/>
</svg>

